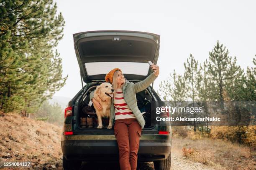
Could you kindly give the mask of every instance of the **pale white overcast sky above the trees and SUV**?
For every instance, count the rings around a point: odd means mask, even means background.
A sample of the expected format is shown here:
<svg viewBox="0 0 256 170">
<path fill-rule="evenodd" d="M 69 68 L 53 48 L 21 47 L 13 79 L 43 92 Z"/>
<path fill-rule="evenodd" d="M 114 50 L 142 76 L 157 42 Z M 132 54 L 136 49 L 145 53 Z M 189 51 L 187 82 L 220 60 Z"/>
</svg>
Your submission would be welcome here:
<svg viewBox="0 0 256 170">
<path fill-rule="evenodd" d="M 208 59 L 217 40 L 237 58 L 244 70 L 256 55 L 255 0 L 55 0 L 65 20 L 64 37 L 57 47 L 66 85 L 54 96 L 74 97 L 82 88 L 73 34 L 94 30 L 133 30 L 160 35 L 157 65 L 159 89 L 175 69 L 184 73 L 190 54 L 200 63 Z"/>
</svg>

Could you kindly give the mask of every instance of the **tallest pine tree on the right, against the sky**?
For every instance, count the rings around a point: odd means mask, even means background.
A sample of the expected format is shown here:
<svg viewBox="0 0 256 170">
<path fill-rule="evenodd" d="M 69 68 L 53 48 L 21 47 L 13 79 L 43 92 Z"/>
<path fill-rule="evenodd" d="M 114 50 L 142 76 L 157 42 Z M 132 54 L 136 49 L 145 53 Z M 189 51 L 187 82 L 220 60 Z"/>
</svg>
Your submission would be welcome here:
<svg viewBox="0 0 256 170">
<path fill-rule="evenodd" d="M 223 90 L 225 89 L 228 94 L 232 95 L 236 90 L 235 80 L 239 80 L 243 76 L 243 70 L 236 65 L 236 57 L 232 61 L 232 57 L 228 56 L 228 53 L 228 49 L 217 41 L 212 52 L 209 52 L 209 62 L 207 62 L 208 75 L 212 81 L 210 85 L 211 98 L 220 101 L 222 108 L 224 106 Z"/>
</svg>

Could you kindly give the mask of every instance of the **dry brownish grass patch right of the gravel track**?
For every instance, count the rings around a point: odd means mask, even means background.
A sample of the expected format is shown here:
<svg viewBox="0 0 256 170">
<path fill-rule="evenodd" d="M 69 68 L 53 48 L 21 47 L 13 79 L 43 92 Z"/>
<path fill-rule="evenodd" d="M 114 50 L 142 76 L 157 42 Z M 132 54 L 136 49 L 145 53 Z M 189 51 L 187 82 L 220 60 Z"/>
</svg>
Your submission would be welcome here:
<svg viewBox="0 0 256 170">
<path fill-rule="evenodd" d="M 256 156 L 244 145 L 223 140 L 203 138 L 192 140 L 176 137 L 174 149 L 179 149 L 185 158 L 225 170 L 255 170 Z"/>
</svg>

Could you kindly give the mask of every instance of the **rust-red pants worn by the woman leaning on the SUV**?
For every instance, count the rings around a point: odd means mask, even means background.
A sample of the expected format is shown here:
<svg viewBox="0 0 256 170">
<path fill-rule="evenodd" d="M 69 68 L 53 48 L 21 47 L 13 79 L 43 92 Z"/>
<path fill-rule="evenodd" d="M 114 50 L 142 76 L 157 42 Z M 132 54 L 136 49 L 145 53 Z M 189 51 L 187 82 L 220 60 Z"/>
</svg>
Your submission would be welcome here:
<svg viewBox="0 0 256 170">
<path fill-rule="evenodd" d="M 118 142 L 121 170 L 136 170 L 141 125 L 137 119 L 115 120 L 114 133 Z"/>
</svg>

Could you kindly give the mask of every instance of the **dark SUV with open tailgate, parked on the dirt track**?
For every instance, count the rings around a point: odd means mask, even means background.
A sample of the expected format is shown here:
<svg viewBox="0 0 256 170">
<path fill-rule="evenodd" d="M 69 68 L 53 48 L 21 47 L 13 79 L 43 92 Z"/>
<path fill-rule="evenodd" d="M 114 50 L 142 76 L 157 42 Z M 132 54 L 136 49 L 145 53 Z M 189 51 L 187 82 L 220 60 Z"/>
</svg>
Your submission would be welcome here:
<svg viewBox="0 0 256 170">
<path fill-rule="evenodd" d="M 85 86 L 65 109 L 61 137 L 63 167 L 70 169 L 82 161 L 118 160 L 118 144 L 113 129 L 84 128 L 80 125 L 82 109 L 90 102 L 90 92 L 105 81 L 105 75 L 120 68 L 130 82 L 144 80 L 152 70 L 148 61 L 157 62 L 160 36 L 135 31 L 92 31 L 74 34 L 74 49 Z M 141 132 L 138 162 L 154 161 L 156 170 L 171 166 L 172 132 L 170 126 L 152 124 L 152 102 L 161 102 L 152 86 L 137 93 L 137 103 L 144 108 L 146 121 Z M 139 106 L 138 106 L 139 107 Z M 140 108 L 139 107 L 139 108 Z"/>
</svg>

